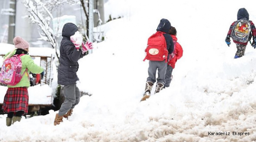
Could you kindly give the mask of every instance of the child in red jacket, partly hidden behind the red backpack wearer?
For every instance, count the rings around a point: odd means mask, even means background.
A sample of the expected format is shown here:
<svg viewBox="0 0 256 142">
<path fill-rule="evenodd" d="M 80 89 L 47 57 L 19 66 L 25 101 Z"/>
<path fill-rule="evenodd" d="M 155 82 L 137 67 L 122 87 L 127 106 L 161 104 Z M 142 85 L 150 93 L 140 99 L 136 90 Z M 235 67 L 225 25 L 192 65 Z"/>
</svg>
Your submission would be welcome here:
<svg viewBox="0 0 256 142">
<path fill-rule="evenodd" d="M 169 87 L 170 83 L 171 83 L 171 79 L 172 79 L 172 71 L 175 67 L 175 64 L 177 62 L 178 59 L 180 59 L 183 55 L 183 49 L 180 45 L 180 43 L 177 42 L 177 30 L 174 27 L 171 27 L 170 33 L 171 34 L 171 38 L 174 42 L 174 52 L 172 52 L 171 54 L 169 54 L 169 62 L 167 64 L 167 70 L 166 70 L 166 74 L 165 74 L 165 87 Z"/>
</svg>

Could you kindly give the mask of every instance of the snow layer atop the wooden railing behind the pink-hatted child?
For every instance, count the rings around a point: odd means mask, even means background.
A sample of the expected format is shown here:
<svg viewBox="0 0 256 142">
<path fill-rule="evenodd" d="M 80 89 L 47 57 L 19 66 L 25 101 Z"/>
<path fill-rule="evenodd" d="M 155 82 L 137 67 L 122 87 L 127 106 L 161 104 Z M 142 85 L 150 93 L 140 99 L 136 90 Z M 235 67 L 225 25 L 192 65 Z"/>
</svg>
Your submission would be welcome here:
<svg viewBox="0 0 256 142">
<path fill-rule="evenodd" d="M 13 44 L 0 43 L 0 55 L 5 55 L 14 48 Z M 29 47 L 30 56 L 51 57 L 55 55 L 55 49 L 49 47 Z"/>
</svg>

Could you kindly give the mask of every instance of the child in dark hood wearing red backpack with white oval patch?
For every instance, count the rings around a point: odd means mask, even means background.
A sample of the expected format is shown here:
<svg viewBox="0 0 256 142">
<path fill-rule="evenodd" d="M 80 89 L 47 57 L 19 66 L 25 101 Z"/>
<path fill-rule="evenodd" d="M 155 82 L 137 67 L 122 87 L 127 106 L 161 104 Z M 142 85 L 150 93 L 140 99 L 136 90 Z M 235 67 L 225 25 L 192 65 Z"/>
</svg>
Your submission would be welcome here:
<svg viewBox="0 0 256 142">
<path fill-rule="evenodd" d="M 167 19 L 161 19 L 156 33 L 148 39 L 147 53 L 145 59 L 149 60 L 148 75 L 145 93 L 141 101 L 150 97 L 151 89 L 157 80 L 155 93 L 158 93 L 165 86 L 165 73 L 167 69 L 168 54 L 174 51 L 174 43 L 170 34 L 171 23 Z M 144 59 L 144 60 L 145 60 Z M 158 78 L 156 79 L 156 71 Z"/>
</svg>

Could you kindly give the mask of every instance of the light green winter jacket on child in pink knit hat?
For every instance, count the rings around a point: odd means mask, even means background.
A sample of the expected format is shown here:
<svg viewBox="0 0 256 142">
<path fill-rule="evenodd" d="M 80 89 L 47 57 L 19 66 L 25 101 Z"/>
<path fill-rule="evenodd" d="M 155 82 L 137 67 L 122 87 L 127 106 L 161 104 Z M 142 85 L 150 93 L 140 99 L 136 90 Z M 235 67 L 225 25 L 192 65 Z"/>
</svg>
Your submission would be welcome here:
<svg viewBox="0 0 256 142">
<path fill-rule="evenodd" d="M 9 53 L 7 53 L 5 55 L 5 57 L 7 55 L 9 55 Z M 16 53 L 16 51 L 14 51 L 11 56 L 15 55 L 15 53 Z M 23 75 L 23 77 L 22 77 L 22 79 L 20 80 L 19 83 L 17 83 L 14 86 L 7 85 L 8 88 L 29 87 L 30 86 L 30 81 L 29 81 L 29 73 L 30 73 L 30 71 L 32 73 L 42 73 L 43 72 L 43 68 L 39 67 L 38 65 L 36 65 L 34 60 L 28 54 L 25 54 L 25 55 L 21 56 L 20 59 L 22 61 L 22 71 L 21 71 L 21 74 L 23 74 L 24 71 L 26 71 L 26 68 L 28 68 L 28 71 L 27 71 L 27 73 L 24 73 L 24 75 Z"/>
</svg>

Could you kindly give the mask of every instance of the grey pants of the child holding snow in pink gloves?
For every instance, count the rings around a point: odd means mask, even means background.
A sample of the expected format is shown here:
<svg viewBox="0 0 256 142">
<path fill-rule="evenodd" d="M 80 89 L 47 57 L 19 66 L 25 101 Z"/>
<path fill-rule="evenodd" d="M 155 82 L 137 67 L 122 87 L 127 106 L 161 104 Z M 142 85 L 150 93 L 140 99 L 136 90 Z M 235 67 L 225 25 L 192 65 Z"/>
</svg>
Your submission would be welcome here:
<svg viewBox="0 0 256 142">
<path fill-rule="evenodd" d="M 66 114 L 71 108 L 74 108 L 80 101 L 80 91 L 76 84 L 64 86 L 64 97 L 65 100 L 61 104 L 59 110 L 59 116 Z"/>
</svg>

